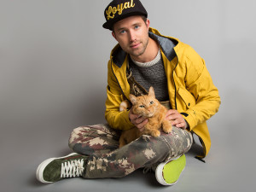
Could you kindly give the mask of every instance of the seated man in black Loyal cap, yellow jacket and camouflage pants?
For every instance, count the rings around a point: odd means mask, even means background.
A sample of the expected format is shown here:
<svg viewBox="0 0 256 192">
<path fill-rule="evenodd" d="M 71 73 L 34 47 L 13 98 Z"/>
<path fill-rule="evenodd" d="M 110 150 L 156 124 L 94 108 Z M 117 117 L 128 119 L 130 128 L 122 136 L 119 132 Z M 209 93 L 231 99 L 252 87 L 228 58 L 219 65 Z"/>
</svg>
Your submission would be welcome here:
<svg viewBox="0 0 256 192">
<path fill-rule="evenodd" d="M 187 44 L 162 36 L 149 27 L 148 13 L 139 0 L 113 0 L 105 9 L 103 27 L 112 31 L 118 45 L 108 61 L 105 117 L 108 125 L 92 125 L 73 130 L 69 147 L 73 154 L 44 160 L 37 177 L 53 183 L 66 177 L 124 177 L 138 168 L 151 168 L 163 185 L 177 182 L 193 143 L 200 138 L 204 158 L 210 148 L 206 120 L 220 104 L 204 61 Z M 143 131 L 148 119 L 131 110 L 119 112 L 119 104 L 130 93 L 147 94 L 154 87 L 156 98 L 169 108 L 172 132 L 160 137 L 143 135 L 119 148 L 119 130 L 136 126 Z"/>
</svg>

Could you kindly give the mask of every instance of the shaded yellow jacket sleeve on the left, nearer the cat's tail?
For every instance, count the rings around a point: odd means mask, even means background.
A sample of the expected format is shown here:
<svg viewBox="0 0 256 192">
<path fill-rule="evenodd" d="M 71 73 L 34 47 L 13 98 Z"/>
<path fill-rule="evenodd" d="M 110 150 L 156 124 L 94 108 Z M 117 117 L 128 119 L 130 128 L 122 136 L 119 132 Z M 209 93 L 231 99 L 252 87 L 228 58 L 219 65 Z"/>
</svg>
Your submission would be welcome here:
<svg viewBox="0 0 256 192">
<path fill-rule="evenodd" d="M 114 76 L 112 62 L 108 61 L 108 86 L 105 118 L 114 129 L 128 130 L 133 126 L 129 119 L 129 111 L 119 112 L 119 105 L 124 101 L 122 90 Z"/>
</svg>

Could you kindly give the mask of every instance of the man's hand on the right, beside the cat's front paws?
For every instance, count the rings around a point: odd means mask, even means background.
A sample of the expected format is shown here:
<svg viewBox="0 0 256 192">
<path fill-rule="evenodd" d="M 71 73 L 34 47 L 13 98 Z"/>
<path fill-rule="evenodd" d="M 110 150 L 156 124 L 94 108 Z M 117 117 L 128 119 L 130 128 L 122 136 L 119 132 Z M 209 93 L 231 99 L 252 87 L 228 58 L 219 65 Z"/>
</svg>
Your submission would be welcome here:
<svg viewBox="0 0 256 192">
<path fill-rule="evenodd" d="M 183 115 L 178 113 L 177 110 L 170 109 L 166 113 L 166 119 L 172 121 L 172 125 L 177 126 L 178 128 L 186 129 L 187 124 L 185 119 L 183 119 Z"/>
</svg>

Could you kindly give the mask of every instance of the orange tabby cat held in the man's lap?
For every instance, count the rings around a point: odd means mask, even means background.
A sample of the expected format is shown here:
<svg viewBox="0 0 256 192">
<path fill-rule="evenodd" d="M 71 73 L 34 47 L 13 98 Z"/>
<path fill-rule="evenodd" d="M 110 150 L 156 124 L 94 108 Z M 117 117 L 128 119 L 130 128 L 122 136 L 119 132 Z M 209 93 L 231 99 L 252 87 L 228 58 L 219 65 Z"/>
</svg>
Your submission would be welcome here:
<svg viewBox="0 0 256 192">
<path fill-rule="evenodd" d="M 130 99 L 132 103 L 132 112 L 141 117 L 147 118 L 148 123 L 144 126 L 143 132 L 139 131 L 137 127 L 122 131 L 121 137 L 119 138 L 119 148 L 123 147 L 127 143 L 131 143 L 142 135 L 159 137 L 160 128 L 162 128 L 166 133 L 172 131 L 172 124 L 166 119 L 167 109 L 155 98 L 153 87 L 149 88 L 148 95 L 137 97 L 130 95 Z M 121 102 L 119 110 L 124 111 L 128 106 L 129 102 Z"/>
</svg>

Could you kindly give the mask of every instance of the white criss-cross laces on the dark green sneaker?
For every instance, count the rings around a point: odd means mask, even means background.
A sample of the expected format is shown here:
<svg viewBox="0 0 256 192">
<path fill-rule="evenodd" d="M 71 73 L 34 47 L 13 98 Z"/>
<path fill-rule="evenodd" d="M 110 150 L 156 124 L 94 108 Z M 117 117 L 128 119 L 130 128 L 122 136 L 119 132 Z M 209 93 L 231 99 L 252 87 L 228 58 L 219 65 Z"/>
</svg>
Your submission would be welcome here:
<svg viewBox="0 0 256 192">
<path fill-rule="evenodd" d="M 61 177 L 79 177 L 84 171 L 84 160 L 71 160 L 61 163 Z"/>
</svg>

